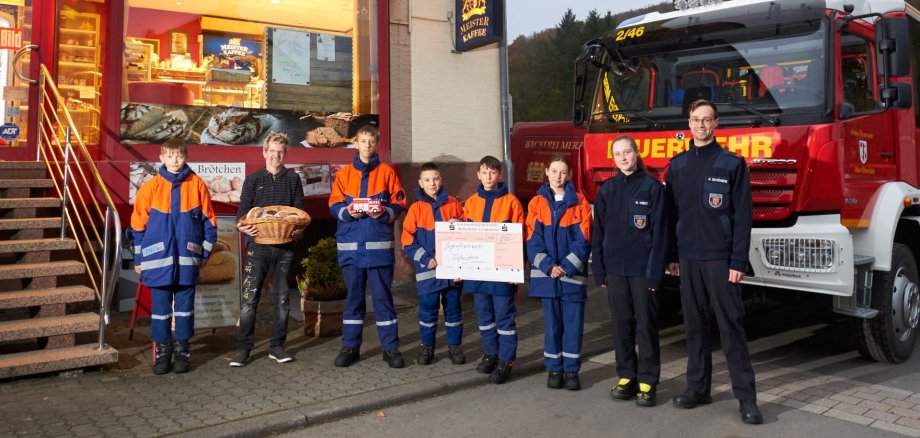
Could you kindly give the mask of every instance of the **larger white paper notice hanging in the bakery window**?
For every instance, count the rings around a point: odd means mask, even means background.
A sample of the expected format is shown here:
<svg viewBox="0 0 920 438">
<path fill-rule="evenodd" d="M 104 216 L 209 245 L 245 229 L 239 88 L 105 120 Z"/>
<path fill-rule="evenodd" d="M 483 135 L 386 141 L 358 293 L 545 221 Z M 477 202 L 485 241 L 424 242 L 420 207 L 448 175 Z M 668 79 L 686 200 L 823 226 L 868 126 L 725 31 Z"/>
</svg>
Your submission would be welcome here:
<svg viewBox="0 0 920 438">
<path fill-rule="evenodd" d="M 269 35 L 272 40 L 272 82 L 310 85 L 310 33 L 270 28 Z"/>
</svg>

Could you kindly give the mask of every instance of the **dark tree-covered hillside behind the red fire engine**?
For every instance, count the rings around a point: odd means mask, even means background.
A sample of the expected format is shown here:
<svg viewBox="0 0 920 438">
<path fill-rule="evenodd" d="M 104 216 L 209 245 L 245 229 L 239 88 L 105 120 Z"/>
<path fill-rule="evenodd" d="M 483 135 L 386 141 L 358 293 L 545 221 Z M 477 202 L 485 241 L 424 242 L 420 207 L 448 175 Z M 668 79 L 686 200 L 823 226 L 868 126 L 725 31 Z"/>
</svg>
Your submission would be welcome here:
<svg viewBox="0 0 920 438">
<path fill-rule="evenodd" d="M 592 10 L 584 20 L 578 20 L 569 9 L 556 27 L 515 39 L 508 46 L 514 121 L 570 120 L 575 58 L 581 54 L 582 45 L 603 36 L 629 17 L 673 10 L 671 2 L 663 2 L 619 14 L 607 11 L 603 16 Z"/>
</svg>

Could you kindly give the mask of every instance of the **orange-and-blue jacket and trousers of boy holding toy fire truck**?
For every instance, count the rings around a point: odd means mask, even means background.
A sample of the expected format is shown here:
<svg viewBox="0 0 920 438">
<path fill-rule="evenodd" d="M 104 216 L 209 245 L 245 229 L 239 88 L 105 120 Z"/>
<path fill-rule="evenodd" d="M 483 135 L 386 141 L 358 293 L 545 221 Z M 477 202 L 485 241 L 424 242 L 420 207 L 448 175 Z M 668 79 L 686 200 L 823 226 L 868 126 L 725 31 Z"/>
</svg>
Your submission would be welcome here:
<svg viewBox="0 0 920 438">
<path fill-rule="evenodd" d="M 380 200 L 383 214 L 379 218 L 352 217 L 348 207 L 355 198 Z M 377 335 L 383 350 L 399 347 L 396 312 L 393 310 L 393 262 L 395 245 L 393 222 L 406 208 L 406 193 L 396 171 L 374 154 L 367 163 L 358 154 L 350 166 L 336 174 L 329 211 L 338 219 L 335 240 L 339 264 L 348 294 L 342 314 L 342 347 L 361 346 L 365 314 L 365 287 L 370 282 L 374 300 Z"/>
</svg>

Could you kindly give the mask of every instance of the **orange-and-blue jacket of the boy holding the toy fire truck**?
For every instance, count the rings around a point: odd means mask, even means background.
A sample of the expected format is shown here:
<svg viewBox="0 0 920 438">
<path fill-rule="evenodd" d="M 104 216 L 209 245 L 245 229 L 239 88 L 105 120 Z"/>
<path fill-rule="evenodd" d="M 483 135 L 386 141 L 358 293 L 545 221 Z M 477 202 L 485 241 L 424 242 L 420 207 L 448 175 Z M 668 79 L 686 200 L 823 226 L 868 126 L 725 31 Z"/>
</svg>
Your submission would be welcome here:
<svg viewBox="0 0 920 438">
<path fill-rule="evenodd" d="M 383 215 L 355 219 L 348 206 L 355 198 L 380 200 Z M 351 166 L 345 166 L 335 176 L 329 195 L 329 211 L 338 219 L 335 240 L 339 250 L 339 265 L 359 268 L 393 266 L 393 222 L 406 208 L 406 193 L 392 167 L 380 162 L 377 154 L 364 163 L 355 154 Z"/>
</svg>

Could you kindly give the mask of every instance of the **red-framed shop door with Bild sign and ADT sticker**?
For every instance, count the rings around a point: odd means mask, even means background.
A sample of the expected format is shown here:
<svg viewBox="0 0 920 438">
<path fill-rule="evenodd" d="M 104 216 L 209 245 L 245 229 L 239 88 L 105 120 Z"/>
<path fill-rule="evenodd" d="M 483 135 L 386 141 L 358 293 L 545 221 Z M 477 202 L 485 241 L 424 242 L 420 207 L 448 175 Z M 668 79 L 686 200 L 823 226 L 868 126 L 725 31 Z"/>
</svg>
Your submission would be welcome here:
<svg viewBox="0 0 920 438">
<path fill-rule="evenodd" d="M 0 0 L 0 161 L 36 159 L 38 77 L 51 68 L 54 0 Z M 31 82 L 35 81 L 34 84 Z"/>
</svg>

